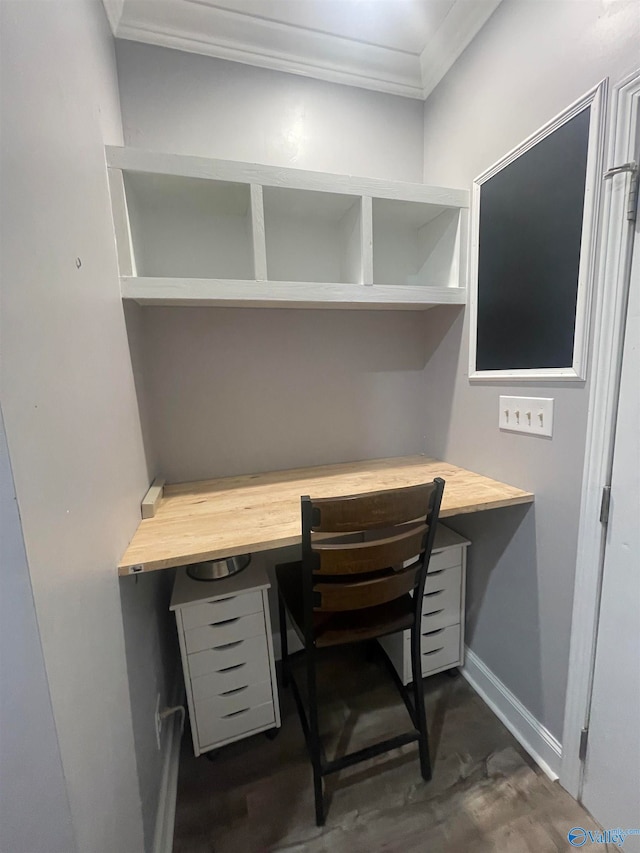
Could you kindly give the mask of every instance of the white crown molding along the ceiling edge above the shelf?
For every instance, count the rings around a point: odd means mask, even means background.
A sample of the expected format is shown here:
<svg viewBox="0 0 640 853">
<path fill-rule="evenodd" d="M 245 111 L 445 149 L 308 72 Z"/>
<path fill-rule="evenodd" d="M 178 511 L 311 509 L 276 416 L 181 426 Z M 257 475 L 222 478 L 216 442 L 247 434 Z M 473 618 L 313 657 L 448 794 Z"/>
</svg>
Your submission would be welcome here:
<svg viewBox="0 0 640 853">
<path fill-rule="evenodd" d="M 208 0 L 103 2 L 120 39 L 424 100 L 501 0 L 457 0 L 420 54 L 254 17 Z"/>
</svg>

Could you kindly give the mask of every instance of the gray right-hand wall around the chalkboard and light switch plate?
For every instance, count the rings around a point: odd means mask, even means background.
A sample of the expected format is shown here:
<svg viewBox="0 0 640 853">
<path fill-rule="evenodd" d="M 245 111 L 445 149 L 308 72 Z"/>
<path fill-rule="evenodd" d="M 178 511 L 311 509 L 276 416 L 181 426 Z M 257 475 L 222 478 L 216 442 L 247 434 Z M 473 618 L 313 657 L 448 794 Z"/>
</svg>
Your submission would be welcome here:
<svg viewBox="0 0 640 853">
<path fill-rule="evenodd" d="M 603 77 L 638 64 L 636 2 L 506 2 L 425 105 L 425 181 L 470 186 Z M 561 739 L 588 382 L 470 383 L 468 329 L 451 328 L 426 382 L 439 456 L 530 489 L 535 509 L 458 520 L 474 542 L 468 642 Z M 498 396 L 555 398 L 551 441 L 497 428 Z"/>
</svg>

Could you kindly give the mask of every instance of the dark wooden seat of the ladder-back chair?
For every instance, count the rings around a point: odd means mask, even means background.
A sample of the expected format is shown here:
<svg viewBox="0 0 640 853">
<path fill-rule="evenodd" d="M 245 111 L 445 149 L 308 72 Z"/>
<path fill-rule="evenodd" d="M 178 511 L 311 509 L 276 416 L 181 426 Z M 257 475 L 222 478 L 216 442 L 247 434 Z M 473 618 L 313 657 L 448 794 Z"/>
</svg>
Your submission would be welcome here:
<svg viewBox="0 0 640 853">
<path fill-rule="evenodd" d="M 304 601 L 302 595 L 302 562 L 284 563 L 276 567 L 278 590 L 291 617 L 292 627 L 304 643 Z M 347 611 L 314 611 L 313 628 L 316 648 L 359 643 L 411 628 L 413 599 L 410 595 L 386 604 Z"/>
</svg>

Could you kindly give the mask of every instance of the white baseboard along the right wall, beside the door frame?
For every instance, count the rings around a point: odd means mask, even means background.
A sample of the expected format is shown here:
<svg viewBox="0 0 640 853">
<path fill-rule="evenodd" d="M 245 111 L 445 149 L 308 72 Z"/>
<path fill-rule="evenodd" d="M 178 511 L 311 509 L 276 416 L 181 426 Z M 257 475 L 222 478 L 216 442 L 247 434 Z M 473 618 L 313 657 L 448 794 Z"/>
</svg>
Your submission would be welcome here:
<svg viewBox="0 0 640 853">
<path fill-rule="evenodd" d="M 470 649 L 460 669 L 476 693 L 504 723 L 536 764 L 555 782 L 560 774 L 562 744 L 528 711 L 508 687 Z"/>
</svg>

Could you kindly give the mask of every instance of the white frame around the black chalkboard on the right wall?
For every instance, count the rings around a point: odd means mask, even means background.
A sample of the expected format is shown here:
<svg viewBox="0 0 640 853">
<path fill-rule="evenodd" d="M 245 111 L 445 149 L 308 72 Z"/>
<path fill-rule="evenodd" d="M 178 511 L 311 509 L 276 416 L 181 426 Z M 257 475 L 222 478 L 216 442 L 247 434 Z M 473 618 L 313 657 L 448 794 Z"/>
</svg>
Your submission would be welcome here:
<svg viewBox="0 0 640 853">
<path fill-rule="evenodd" d="M 510 151 L 505 157 L 497 163 L 494 163 L 491 168 L 487 169 L 486 172 L 483 172 L 473 182 L 469 276 L 470 379 L 485 381 L 504 381 L 508 379 L 517 379 L 520 381 L 539 381 L 545 379 L 582 381 L 586 378 L 589 338 L 589 309 L 592 301 L 591 295 L 596 268 L 596 244 L 599 220 L 598 211 L 604 162 L 604 107 L 606 92 L 607 80 L 603 80 L 587 92 L 582 98 L 573 103 L 570 107 L 540 128 L 540 130 Z M 589 107 L 591 109 L 591 116 L 589 122 L 584 208 L 582 215 L 582 240 L 580 245 L 572 365 L 571 367 L 543 367 L 534 369 L 505 367 L 501 370 L 478 370 L 476 367 L 478 340 L 478 258 L 482 185 L 510 163 L 513 163 L 522 154 L 533 148 L 534 145 L 537 145 L 563 124 Z"/>
</svg>

